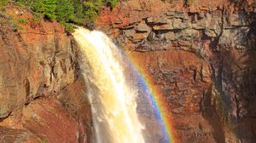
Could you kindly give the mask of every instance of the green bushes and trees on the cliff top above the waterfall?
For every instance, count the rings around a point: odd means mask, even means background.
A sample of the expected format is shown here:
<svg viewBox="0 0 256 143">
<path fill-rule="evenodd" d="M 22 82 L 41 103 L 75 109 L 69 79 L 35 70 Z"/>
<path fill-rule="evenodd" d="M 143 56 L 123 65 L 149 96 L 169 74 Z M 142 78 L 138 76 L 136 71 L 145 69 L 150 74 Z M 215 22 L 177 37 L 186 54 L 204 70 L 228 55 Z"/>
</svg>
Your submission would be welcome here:
<svg viewBox="0 0 256 143">
<path fill-rule="evenodd" d="M 11 0 L 0 0 L 0 6 Z M 3 4 L 2 4 L 3 2 Z M 71 24 L 90 26 L 96 20 L 103 4 L 114 7 L 118 0 L 14 0 L 18 5 L 26 6 L 35 15 L 47 20 L 57 20 L 67 30 L 72 30 Z"/>
</svg>

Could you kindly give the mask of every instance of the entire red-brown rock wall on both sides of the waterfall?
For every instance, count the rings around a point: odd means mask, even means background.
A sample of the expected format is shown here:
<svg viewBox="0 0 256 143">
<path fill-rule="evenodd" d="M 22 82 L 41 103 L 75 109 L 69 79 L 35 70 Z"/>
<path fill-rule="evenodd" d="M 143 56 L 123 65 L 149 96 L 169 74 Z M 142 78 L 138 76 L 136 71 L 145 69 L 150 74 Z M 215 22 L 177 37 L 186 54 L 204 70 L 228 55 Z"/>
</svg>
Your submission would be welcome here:
<svg viewBox="0 0 256 143">
<path fill-rule="evenodd" d="M 96 29 L 160 90 L 177 142 L 253 143 L 255 8 L 253 0 L 127 0 L 102 9 Z M 20 8 L 0 12 L 0 26 L 0 142 L 93 142 L 73 37 Z"/>
</svg>

